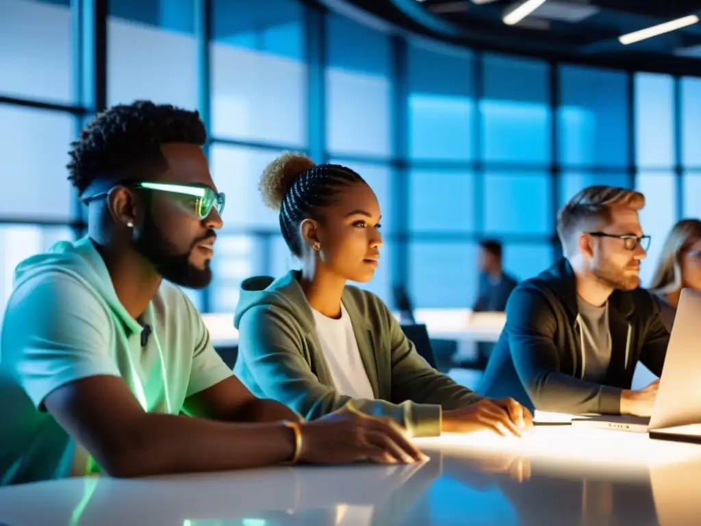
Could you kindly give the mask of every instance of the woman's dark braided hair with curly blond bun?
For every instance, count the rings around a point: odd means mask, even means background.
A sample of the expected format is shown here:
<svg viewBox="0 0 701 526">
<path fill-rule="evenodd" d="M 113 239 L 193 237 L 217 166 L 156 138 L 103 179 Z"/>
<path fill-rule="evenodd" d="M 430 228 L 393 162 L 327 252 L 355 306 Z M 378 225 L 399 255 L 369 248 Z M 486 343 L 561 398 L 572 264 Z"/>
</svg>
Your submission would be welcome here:
<svg viewBox="0 0 701 526">
<path fill-rule="evenodd" d="M 280 210 L 280 231 L 292 254 L 304 248 L 299 225 L 318 219 L 321 208 L 332 205 L 336 194 L 348 184 L 365 183 L 351 168 L 338 164 L 315 164 L 301 154 L 287 153 L 270 163 L 261 176 L 259 190 L 268 208 Z"/>
</svg>

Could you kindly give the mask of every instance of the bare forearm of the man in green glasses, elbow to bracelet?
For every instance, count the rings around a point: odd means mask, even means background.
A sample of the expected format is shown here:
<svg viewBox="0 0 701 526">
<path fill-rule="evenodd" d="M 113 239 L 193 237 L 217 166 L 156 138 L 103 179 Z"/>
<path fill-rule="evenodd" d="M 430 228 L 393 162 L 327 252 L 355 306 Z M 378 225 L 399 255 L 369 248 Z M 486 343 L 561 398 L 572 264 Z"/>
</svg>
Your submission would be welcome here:
<svg viewBox="0 0 701 526">
<path fill-rule="evenodd" d="M 234 424 L 149 413 L 128 434 L 129 443 L 112 445 L 105 458 L 97 458 L 111 476 L 270 466 L 294 454 L 294 432 L 275 423 Z"/>
</svg>

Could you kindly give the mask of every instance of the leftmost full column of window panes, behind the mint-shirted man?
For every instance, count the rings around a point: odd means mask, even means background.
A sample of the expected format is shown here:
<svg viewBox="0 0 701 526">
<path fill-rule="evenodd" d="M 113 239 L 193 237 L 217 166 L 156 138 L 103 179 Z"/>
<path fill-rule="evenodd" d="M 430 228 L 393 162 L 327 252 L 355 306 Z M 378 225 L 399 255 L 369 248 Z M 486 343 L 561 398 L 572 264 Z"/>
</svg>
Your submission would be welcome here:
<svg viewBox="0 0 701 526">
<path fill-rule="evenodd" d="M 83 109 L 73 5 L 0 1 L 0 327 L 17 265 L 75 235 L 66 164 Z"/>
</svg>

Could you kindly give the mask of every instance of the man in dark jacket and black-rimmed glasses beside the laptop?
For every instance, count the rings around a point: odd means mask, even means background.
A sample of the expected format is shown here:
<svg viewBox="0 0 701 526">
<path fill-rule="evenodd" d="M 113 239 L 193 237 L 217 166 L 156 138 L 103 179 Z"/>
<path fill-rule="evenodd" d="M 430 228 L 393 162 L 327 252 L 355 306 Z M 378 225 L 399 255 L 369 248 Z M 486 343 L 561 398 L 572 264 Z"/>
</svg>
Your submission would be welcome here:
<svg viewBox="0 0 701 526">
<path fill-rule="evenodd" d="M 639 361 L 662 374 L 669 332 L 639 288 L 650 238 L 643 194 L 595 186 L 560 210 L 564 257 L 512 292 L 479 393 L 537 410 L 649 416 L 658 381 L 632 391 Z"/>
</svg>

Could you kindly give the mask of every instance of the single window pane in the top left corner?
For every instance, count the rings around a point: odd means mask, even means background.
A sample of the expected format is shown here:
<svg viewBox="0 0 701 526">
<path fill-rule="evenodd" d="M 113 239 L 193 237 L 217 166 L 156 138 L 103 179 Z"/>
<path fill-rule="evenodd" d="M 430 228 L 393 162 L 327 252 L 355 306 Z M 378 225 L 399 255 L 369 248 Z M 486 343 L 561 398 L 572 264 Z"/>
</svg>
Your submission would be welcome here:
<svg viewBox="0 0 701 526">
<path fill-rule="evenodd" d="M 0 93 L 73 102 L 71 46 L 68 5 L 0 1 Z"/>
</svg>

